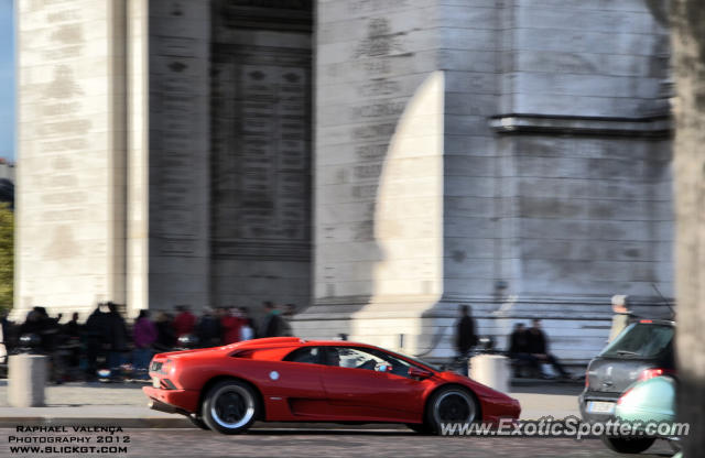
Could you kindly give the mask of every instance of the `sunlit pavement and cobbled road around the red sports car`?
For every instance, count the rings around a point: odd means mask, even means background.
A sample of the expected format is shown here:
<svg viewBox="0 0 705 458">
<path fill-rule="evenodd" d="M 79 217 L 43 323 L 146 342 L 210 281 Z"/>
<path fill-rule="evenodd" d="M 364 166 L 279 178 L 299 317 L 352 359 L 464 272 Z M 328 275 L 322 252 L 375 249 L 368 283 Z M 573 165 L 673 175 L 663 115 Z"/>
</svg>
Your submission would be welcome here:
<svg viewBox="0 0 705 458">
<path fill-rule="evenodd" d="M 257 424 L 245 436 L 223 436 L 194 428 L 180 415 L 145 407 L 142 384 L 69 383 L 46 388 L 46 407 L 12 408 L 7 404 L 7 384 L 0 381 L 0 457 L 618 457 L 597 439 L 517 437 L 431 437 L 401 425 L 349 427 L 340 425 Z M 577 415 L 582 385 L 522 381 L 512 396 L 522 404 L 522 418 L 544 415 Z M 120 426 L 109 433 L 19 432 L 29 425 Z M 174 429 L 173 427 L 178 427 Z M 11 438 L 13 437 L 13 438 Z M 73 437 L 74 439 L 69 439 Z M 66 438 L 66 439 L 62 439 Z M 83 440 L 64 443 L 57 440 Z M 20 440 L 20 441 L 18 441 Z M 33 443 L 36 440 L 36 443 Z M 50 443 L 52 440 L 52 443 Z M 101 440 L 100 444 L 98 441 Z M 45 448 L 11 449 L 15 446 L 69 447 L 46 452 Z M 124 447 L 96 449 L 72 447 Z M 58 451 L 58 452 L 57 452 Z M 658 443 L 642 457 L 671 456 Z"/>
</svg>

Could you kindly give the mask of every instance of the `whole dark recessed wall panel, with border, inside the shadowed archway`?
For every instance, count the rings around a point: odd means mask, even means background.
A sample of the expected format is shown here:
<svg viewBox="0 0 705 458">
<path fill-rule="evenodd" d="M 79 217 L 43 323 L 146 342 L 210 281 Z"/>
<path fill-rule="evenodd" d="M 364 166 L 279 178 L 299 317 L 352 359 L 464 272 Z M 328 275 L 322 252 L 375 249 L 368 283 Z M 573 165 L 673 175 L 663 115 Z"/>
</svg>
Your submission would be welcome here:
<svg viewBox="0 0 705 458">
<path fill-rule="evenodd" d="M 215 254 L 251 255 L 274 243 L 276 255 L 285 247 L 304 255 L 311 218 L 310 52 L 224 45 L 216 61 Z"/>
</svg>

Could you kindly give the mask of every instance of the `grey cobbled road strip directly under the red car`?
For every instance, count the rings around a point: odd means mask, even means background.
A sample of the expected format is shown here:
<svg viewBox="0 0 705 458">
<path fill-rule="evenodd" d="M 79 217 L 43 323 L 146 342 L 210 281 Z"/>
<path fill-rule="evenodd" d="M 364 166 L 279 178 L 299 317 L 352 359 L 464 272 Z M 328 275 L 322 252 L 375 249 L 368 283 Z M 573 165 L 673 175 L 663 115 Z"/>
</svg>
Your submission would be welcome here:
<svg viewBox="0 0 705 458">
<path fill-rule="evenodd" d="M 97 445 L 98 436 L 89 434 L 22 434 L 12 429 L 0 429 L 0 456 L 74 457 L 67 454 L 39 455 L 26 449 L 25 454 L 13 450 L 10 436 L 90 438 L 84 446 L 126 447 L 108 454 L 82 454 L 83 457 L 590 457 L 607 458 L 614 454 L 597 439 L 574 440 L 552 438 L 489 438 L 489 437 L 433 437 L 405 430 L 354 432 L 354 430 L 274 430 L 259 429 L 243 436 L 223 436 L 198 429 L 126 429 L 108 437 L 120 440 L 120 445 Z M 115 440 L 115 439 L 113 439 Z M 41 445 L 42 447 L 45 445 Z M 54 445 L 56 446 L 56 445 Z M 65 445 L 64 445 L 65 446 Z M 657 444 L 640 457 L 671 456 L 670 447 Z"/>
</svg>

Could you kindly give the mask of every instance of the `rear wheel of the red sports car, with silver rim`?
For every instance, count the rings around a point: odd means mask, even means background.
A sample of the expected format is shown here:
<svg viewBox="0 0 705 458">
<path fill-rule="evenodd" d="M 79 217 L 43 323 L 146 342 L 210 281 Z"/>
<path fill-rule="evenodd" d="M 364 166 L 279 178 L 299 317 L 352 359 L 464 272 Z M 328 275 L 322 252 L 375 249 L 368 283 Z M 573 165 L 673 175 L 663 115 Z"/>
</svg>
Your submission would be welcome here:
<svg viewBox="0 0 705 458">
<path fill-rule="evenodd" d="M 221 434 L 240 434 L 249 429 L 258 416 L 257 393 L 247 383 L 226 380 L 206 394 L 200 416 L 208 428 Z"/>
</svg>

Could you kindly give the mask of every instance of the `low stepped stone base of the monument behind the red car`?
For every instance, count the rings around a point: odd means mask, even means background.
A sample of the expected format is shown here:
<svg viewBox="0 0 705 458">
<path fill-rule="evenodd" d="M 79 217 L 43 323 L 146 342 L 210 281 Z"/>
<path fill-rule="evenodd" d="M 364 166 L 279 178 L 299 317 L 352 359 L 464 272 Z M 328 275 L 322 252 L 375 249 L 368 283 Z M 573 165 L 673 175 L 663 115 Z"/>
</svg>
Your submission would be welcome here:
<svg viewBox="0 0 705 458">
<path fill-rule="evenodd" d="M 665 307 L 641 301 L 640 316 L 662 317 Z M 606 344 L 611 308 L 605 297 L 394 297 L 336 298 L 321 302 L 296 315 L 294 334 L 306 339 L 339 339 L 376 345 L 430 362 L 447 362 L 454 348 L 458 305 L 471 307 L 476 334 L 495 340 L 495 348 L 507 350 L 516 324 L 531 327 L 541 319 L 550 351 L 562 363 L 584 367 Z"/>
</svg>

